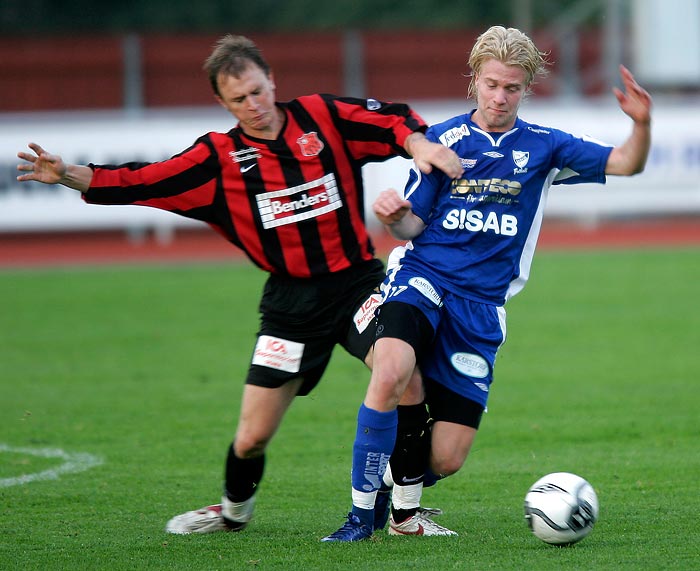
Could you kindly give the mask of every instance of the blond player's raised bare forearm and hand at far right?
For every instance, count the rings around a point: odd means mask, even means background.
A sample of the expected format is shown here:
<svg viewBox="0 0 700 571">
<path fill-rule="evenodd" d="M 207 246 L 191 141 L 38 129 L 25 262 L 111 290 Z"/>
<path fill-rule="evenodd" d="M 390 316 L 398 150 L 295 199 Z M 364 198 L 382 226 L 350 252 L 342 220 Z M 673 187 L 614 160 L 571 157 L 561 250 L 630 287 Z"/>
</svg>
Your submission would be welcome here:
<svg viewBox="0 0 700 571">
<path fill-rule="evenodd" d="M 605 165 L 605 174 L 629 176 L 640 173 L 649 156 L 651 146 L 651 96 L 639 86 L 632 73 L 620 66 L 624 91 L 613 88 L 620 109 L 632 119 L 632 133 L 620 146 L 615 147 Z"/>
</svg>

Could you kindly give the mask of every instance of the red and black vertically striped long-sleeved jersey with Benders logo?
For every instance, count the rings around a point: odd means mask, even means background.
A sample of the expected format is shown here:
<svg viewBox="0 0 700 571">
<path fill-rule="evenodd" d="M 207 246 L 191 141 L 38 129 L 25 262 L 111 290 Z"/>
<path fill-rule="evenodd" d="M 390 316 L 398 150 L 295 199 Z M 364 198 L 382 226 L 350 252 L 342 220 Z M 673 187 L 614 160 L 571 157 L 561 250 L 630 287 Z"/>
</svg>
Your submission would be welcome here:
<svg viewBox="0 0 700 571">
<path fill-rule="evenodd" d="M 260 268 L 311 277 L 372 259 L 361 168 L 407 157 L 424 121 L 404 104 L 332 95 L 278 103 L 275 140 L 207 133 L 162 162 L 90 165 L 93 204 L 135 204 L 210 224 Z"/>
</svg>

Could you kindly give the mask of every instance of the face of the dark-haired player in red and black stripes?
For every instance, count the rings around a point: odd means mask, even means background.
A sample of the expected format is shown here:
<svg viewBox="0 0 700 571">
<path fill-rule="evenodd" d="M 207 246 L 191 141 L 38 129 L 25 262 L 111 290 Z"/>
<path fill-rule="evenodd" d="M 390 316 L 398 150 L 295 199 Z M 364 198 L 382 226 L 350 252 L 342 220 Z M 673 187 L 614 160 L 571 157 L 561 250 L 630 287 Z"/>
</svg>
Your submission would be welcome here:
<svg viewBox="0 0 700 571">
<path fill-rule="evenodd" d="M 274 139 L 282 119 L 275 105 L 275 82 L 257 65 L 249 65 L 239 77 L 219 74 L 219 103 L 238 119 L 243 131 L 253 137 Z"/>
</svg>

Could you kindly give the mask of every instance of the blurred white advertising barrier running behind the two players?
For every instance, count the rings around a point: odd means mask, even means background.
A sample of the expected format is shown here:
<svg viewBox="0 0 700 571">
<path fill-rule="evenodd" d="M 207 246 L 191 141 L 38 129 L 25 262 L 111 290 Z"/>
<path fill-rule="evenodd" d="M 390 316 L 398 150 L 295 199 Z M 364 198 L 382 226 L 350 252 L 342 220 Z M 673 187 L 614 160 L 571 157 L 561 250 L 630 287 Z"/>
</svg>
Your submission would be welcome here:
<svg viewBox="0 0 700 571">
<path fill-rule="evenodd" d="M 468 108 L 465 102 L 418 102 L 416 110 L 437 122 Z M 619 144 L 631 129 L 614 97 L 602 102 L 526 102 L 528 121 Z M 201 134 L 226 131 L 232 119 L 223 110 L 178 109 L 139 115 L 52 113 L 0 115 L 0 233 L 47 230 L 153 228 L 156 232 L 193 226 L 173 214 L 133 206 L 86 205 L 62 187 L 16 182 L 17 152 L 41 144 L 68 162 L 155 161 L 188 147 Z M 408 161 L 394 159 L 366 168 L 367 204 L 387 187 L 401 188 Z M 609 177 L 608 184 L 555 187 L 549 216 L 596 221 L 606 217 L 700 214 L 700 101 L 656 102 L 652 152 L 646 171 Z M 372 224 L 374 218 L 368 214 Z"/>
</svg>

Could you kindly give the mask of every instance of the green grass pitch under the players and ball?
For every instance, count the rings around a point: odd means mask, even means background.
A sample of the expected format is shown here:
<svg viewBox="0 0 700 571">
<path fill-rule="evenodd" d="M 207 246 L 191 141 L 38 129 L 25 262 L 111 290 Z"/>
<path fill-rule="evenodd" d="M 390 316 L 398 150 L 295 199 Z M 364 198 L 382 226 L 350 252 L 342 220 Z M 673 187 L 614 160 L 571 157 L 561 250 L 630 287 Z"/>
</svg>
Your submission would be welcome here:
<svg viewBox="0 0 700 571">
<path fill-rule="evenodd" d="M 700 569 L 697 248 L 538 254 L 472 455 L 424 494 L 458 538 L 319 543 L 349 508 L 368 381 L 342 350 L 270 447 L 250 527 L 165 534 L 218 501 L 263 279 L 223 265 L 0 272 L 0 568 Z M 570 548 L 523 519 L 529 485 L 559 470 L 601 504 Z"/>
</svg>

